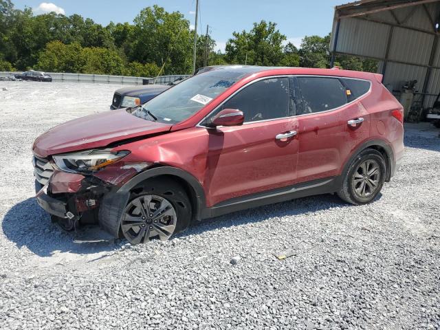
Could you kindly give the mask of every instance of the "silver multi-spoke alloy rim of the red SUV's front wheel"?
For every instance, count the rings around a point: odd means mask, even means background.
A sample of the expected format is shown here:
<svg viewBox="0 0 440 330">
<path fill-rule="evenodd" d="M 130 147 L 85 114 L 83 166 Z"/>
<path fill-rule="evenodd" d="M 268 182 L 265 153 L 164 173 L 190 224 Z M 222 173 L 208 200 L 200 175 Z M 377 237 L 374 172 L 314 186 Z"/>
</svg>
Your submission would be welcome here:
<svg viewBox="0 0 440 330">
<path fill-rule="evenodd" d="M 121 229 L 134 245 L 155 238 L 166 241 L 173 234 L 176 223 L 176 211 L 170 201 L 157 195 L 142 195 L 126 206 Z"/>
</svg>

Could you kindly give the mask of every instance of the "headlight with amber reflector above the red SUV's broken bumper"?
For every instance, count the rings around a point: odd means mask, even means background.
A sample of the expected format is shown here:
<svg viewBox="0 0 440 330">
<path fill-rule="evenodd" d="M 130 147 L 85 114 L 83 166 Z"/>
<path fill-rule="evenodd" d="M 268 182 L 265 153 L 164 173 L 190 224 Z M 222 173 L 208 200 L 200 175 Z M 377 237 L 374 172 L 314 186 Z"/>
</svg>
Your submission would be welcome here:
<svg viewBox="0 0 440 330">
<path fill-rule="evenodd" d="M 118 162 L 129 151 L 104 151 L 104 150 L 88 150 L 79 153 L 66 153 L 64 155 L 53 156 L 54 162 L 58 168 L 70 173 L 84 173 L 99 170 L 107 165 Z"/>
</svg>

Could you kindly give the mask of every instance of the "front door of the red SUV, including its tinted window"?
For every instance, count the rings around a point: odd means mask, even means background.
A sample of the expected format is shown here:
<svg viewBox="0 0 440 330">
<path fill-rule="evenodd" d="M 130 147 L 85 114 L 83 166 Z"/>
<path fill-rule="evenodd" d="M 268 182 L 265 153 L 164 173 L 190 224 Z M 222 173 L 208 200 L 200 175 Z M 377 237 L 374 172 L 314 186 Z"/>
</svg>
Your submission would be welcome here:
<svg viewBox="0 0 440 330">
<path fill-rule="evenodd" d="M 208 129 L 208 170 L 203 182 L 208 204 L 294 184 L 298 121 L 289 117 L 289 78 L 256 81 L 217 111 L 221 109 L 243 111 L 245 123 Z"/>
</svg>

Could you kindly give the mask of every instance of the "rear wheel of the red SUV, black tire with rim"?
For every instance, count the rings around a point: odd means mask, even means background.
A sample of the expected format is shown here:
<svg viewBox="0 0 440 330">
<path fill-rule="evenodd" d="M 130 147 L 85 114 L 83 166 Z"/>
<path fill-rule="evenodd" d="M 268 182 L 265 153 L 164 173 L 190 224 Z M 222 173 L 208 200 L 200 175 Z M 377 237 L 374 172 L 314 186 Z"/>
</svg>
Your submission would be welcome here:
<svg viewBox="0 0 440 330">
<path fill-rule="evenodd" d="M 351 161 L 338 196 L 354 205 L 370 203 L 382 190 L 385 177 L 384 156 L 375 149 L 367 148 Z"/>
</svg>

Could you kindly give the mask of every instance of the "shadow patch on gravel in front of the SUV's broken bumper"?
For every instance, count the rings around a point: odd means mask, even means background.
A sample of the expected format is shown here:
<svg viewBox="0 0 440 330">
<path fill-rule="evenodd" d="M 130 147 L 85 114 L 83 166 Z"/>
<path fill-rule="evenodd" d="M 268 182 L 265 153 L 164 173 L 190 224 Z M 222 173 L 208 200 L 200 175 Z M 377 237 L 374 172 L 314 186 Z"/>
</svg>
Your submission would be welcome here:
<svg viewBox="0 0 440 330">
<path fill-rule="evenodd" d="M 98 226 L 85 226 L 65 232 L 50 220 L 34 197 L 14 205 L 3 217 L 3 234 L 17 245 L 27 247 L 38 256 L 58 252 L 96 254 L 119 248 L 115 239 Z"/>
</svg>

